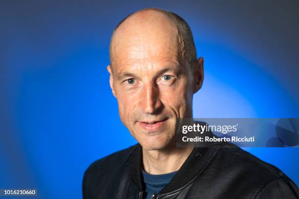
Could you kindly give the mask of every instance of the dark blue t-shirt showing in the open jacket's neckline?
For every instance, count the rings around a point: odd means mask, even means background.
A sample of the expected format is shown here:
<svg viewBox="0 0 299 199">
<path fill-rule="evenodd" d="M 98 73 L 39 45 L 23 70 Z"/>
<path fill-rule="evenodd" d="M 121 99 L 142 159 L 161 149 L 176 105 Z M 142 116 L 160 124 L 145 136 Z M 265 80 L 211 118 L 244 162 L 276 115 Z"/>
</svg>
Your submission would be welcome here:
<svg viewBox="0 0 299 199">
<path fill-rule="evenodd" d="M 153 194 L 159 193 L 171 181 L 175 174 L 176 171 L 168 174 L 152 175 L 142 170 L 143 180 L 146 184 L 146 199 L 150 199 Z"/>
</svg>

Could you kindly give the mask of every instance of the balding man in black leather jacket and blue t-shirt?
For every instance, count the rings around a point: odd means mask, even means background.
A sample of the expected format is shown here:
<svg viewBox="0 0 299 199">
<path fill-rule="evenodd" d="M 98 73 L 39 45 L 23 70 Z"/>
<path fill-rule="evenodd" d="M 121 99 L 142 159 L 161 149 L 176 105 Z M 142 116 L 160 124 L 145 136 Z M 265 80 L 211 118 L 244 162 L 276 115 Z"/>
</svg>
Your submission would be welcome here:
<svg viewBox="0 0 299 199">
<path fill-rule="evenodd" d="M 299 197 L 278 168 L 240 148 L 177 148 L 178 119 L 192 118 L 203 83 L 188 24 L 148 8 L 129 15 L 110 42 L 110 87 L 138 144 L 92 163 L 84 199 L 264 199 Z"/>
</svg>

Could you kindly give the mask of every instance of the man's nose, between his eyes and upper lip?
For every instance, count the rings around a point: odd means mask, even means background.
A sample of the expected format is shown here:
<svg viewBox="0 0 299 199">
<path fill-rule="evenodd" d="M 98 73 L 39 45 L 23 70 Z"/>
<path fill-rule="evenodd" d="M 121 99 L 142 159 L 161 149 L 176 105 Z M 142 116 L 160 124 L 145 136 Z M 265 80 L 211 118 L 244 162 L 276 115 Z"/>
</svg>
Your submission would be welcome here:
<svg viewBox="0 0 299 199">
<path fill-rule="evenodd" d="M 155 114 L 162 107 L 161 100 L 159 99 L 159 89 L 153 83 L 149 83 L 143 87 L 139 107 L 147 114 Z"/>
</svg>

